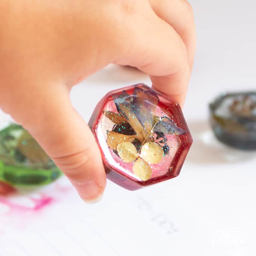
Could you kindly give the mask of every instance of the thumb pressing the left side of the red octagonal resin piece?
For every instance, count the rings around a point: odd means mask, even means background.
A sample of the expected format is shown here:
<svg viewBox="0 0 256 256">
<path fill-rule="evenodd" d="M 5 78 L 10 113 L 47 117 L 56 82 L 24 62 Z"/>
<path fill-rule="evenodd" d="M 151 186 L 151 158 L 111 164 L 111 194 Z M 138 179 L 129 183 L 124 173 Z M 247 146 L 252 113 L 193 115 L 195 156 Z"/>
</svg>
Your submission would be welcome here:
<svg viewBox="0 0 256 256">
<path fill-rule="evenodd" d="M 90 128 L 73 109 L 64 86 L 53 86 L 50 91 L 44 88 L 39 94 L 22 125 L 69 178 L 80 197 L 88 203 L 98 201 L 106 175 Z"/>
</svg>

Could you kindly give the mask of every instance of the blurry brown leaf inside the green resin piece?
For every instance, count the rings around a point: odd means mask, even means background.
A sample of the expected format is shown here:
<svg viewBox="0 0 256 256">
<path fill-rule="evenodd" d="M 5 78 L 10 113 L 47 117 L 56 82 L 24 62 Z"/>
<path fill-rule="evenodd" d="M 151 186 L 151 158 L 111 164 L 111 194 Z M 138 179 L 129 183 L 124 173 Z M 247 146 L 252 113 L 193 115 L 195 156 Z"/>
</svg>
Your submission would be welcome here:
<svg viewBox="0 0 256 256">
<path fill-rule="evenodd" d="M 47 164 L 50 161 L 46 152 L 27 131 L 20 136 L 17 148 L 31 163 Z"/>
</svg>

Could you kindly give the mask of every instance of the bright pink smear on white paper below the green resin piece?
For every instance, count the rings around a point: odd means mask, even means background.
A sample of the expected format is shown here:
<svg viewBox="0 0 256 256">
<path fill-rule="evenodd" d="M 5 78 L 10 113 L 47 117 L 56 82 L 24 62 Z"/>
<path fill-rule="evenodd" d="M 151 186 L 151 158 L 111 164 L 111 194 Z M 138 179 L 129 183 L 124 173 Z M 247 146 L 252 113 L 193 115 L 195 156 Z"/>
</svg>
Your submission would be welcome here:
<svg viewBox="0 0 256 256">
<path fill-rule="evenodd" d="M 41 187 L 31 193 L 14 192 L 0 196 L 0 235 L 10 228 L 23 230 L 31 222 L 41 221 L 46 210 L 61 203 L 74 190 L 65 177 L 53 184 Z"/>
</svg>

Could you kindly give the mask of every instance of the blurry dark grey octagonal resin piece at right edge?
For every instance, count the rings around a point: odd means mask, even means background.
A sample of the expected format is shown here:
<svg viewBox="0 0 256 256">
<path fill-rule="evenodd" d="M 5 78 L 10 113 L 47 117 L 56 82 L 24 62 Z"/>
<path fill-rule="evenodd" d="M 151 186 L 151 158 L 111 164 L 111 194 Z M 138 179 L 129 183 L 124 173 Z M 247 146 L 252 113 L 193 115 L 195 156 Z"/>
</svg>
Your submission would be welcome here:
<svg viewBox="0 0 256 256">
<path fill-rule="evenodd" d="M 210 123 L 221 142 L 256 150 L 256 92 L 227 93 L 210 105 Z"/>
</svg>

